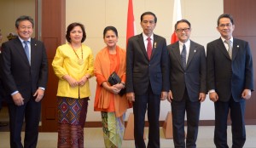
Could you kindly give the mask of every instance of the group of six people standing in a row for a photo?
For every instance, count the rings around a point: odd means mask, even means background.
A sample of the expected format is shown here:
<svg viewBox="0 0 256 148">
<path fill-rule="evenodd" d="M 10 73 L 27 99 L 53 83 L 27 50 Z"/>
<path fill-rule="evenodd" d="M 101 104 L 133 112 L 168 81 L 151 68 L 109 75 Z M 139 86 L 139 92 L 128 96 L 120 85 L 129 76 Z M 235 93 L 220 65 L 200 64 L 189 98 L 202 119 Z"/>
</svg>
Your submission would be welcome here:
<svg viewBox="0 0 256 148">
<path fill-rule="evenodd" d="M 141 15 L 143 32 L 129 38 L 126 50 L 120 48 L 118 31 L 107 26 L 102 48 L 94 60 L 84 45 L 86 33 L 80 23 L 67 26 L 67 43 L 56 49 L 52 66 L 59 78 L 58 147 L 84 147 L 84 122 L 90 100 L 90 77 L 96 77 L 94 110 L 101 111 L 105 147 L 121 147 L 125 111 L 133 107 L 134 138 L 137 148 L 160 147 L 160 100 L 172 106 L 175 147 L 196 147 L 201 102 L 207 93 L 215 106 L 214 143 L 227 145 L 227 118 L 232 121 L 232 147 L 246 141 L 245 100 L 253 91 L 253 59 L 246 41 L 232 37 L 235 24 L 230 14 L 218 17 L 221 37 L 205 48 L 190 40 L 189 20 L 178 20 L 178 42 L 166 46 L 166 39 L 154 34 L 157 17 Z M 41 100 L 47 85 L 48 62 L 44 43 L 33 39 L 33 20 L 20 16 L 15 22 L 18 37 L 3 43 L 1 75 L 8 94 L 10 146 L 22 147 L 20 132 L 26 121 L 24 147 L 36 147 Z M 228 42 L 230 41 L 230 42 Z M 28 52 L 26 54 L 26 48 Z M 119 82 L 109 83 L 113 72 Z M 120 94 L 125 89 L 126 94 Z M 148 145 L 144 134 L 148 112 Z M 187 135 L 184 117 L 187 116 Z"/>
</svg>

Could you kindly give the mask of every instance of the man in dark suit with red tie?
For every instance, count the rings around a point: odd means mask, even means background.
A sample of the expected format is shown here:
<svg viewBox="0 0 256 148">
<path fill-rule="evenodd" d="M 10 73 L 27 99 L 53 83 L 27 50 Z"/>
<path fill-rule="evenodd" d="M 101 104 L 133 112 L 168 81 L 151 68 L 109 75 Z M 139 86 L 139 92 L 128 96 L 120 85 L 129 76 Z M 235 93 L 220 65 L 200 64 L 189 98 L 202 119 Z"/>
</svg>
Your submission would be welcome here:
<svg viewBox="0 0 256 148">
<path fill-rule="evenodd" d="M 160 100 L 166 100 L 169 91 L 166 39 L 153 33 L 156 21 L 154 13 L 143 13 L 143 33 L 131 37 L 126 49 L 126 96 L 133 102 L 134 138 L 137 148 L 146 147 L 143 133 L 147 108 L 147 147 L 160 147 Z"/>
</svg>

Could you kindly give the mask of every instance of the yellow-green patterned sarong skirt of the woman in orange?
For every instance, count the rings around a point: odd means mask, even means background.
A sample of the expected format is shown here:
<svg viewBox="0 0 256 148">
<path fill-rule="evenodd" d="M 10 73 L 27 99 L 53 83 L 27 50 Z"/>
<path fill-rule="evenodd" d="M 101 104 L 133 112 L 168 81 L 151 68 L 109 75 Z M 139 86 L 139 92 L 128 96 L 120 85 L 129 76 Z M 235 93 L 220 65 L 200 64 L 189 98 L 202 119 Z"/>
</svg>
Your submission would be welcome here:
<svg viewBox="0 0 256 148">
<path fill-rule="evenodd" d="M 103 137 L 106 148 L 120 148 L 124 136 L 125 114 L 115 117 L 114 112 L 102 111 Z"/>
</svg>

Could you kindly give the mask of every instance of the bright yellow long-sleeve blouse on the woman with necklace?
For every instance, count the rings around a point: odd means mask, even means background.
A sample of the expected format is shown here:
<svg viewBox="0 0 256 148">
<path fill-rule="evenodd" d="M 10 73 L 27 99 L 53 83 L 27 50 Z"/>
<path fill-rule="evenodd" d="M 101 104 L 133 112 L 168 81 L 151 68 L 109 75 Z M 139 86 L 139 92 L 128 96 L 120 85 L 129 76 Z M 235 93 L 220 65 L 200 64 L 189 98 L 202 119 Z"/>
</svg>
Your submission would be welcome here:
<svg viewBox="0 0 256 148">
<path fill-rule="evenodd" d="M 79 65 L 79 59 L 82 59 L 81 49 L 83 49 L 83 65 Z M 76 54 L 78 54 L 79 58 Z M 72 88 L 69 83 L 62 78 L 64 75 L 69 75 L 79 81 L 84 75 L 90 74 L 91 77 L 94 75 L 93 54 L 91 49 L 82 44 L 82 48 L 77 49 L 76 54 L 69 43 L 59 46 L 56 50 L 52 66 L 55 75 L 59 78 L 57 96 L 74 99 L 90 96 L 89 81 L 85 83 L 83 87 L 78 86 Z"/>
</svg>

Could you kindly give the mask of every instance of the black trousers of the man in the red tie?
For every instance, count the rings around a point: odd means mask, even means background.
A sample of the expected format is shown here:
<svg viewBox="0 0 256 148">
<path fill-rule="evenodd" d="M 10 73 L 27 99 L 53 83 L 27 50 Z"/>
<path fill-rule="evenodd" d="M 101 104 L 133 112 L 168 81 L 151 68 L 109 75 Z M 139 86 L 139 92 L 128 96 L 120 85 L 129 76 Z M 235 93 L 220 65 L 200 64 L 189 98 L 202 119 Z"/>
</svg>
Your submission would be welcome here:
<svg viewBox="0 0 256 148">
<path fill-rule="evenodd" d="M 134 114 L 134 139 L 136 148 L 146 148 L 143 134 L 145 125 L 145 114 L 148 109 L 148 148 L 160 147 L 160 95 L 155 95 L 151 87 L 143 95 L 135 94 L 133 102 Z"/>
</svg>

